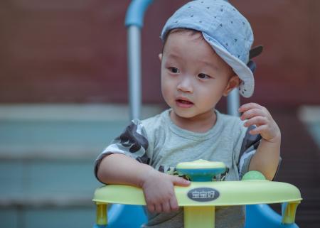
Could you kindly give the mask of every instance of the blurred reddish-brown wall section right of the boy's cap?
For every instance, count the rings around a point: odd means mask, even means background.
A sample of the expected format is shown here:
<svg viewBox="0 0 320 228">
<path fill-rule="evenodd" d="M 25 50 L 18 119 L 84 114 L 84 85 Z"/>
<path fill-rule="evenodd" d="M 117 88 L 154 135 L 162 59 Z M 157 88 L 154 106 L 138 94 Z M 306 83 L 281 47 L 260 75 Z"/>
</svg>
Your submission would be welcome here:
<svg viewBox="0 0 320 228">
<path fill-rule="evenodd" d="M 234 1 L 252 22 L 259 60 L 254 98 L 320 104 L 320 1 Z"/>
</svg>

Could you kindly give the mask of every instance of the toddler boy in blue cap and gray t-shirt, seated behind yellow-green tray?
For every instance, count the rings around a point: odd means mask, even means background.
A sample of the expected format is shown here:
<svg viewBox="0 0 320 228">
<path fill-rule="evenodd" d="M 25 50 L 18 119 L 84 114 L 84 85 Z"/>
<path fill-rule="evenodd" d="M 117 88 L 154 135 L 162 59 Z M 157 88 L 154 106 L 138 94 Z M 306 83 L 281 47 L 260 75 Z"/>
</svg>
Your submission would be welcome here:
<svg viewBox="0 0 320 228">
<path fill-rule="evenodd" d="M 143 227 L 183 227 L 174 185 L 190 182 L 176 174 L 177 163 L 222 161 L 220 180 L 240 180 L 259 170 L 272 180 L 279 163 L 281 134 L 265 107 L 243 104 L 240 118 L 221 114 L 215 105 L 239 88 L 254 89 L 247 67 L 253 42 L 250 23 L 223 0 L 191 1 L 166 22 L 161 39 L 161 91 L 170 109 L 133 120 L 95 163 L 102 183 L 139 186 L 146 198 Z M 246 120 L 246 121 L 245 121 Z M 243 227 L 244 207 L 215 212 L 215 227 Z"/>
</svg>

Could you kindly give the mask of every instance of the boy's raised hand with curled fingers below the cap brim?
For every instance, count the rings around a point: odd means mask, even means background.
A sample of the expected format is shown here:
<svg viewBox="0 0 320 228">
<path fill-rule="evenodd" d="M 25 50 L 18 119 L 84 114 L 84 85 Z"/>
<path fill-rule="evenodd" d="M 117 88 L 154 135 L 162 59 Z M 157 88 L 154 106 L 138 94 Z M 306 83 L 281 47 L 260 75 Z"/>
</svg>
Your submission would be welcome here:
<svg viewBox="0 0 320 228">
<path fill-rule="evenodd" d="M 280 140 L 279 127 L 265 107 L 256 103 L 247 103 L 239 108 L 239 112 L 242 112 L 241 120 L 247 119 L 244 126 L 248 127 L 253 124 L 257 126 L 249 132 L 250 134 L 260 134 L 263 139 L 272 143 Z"/>
</svg>

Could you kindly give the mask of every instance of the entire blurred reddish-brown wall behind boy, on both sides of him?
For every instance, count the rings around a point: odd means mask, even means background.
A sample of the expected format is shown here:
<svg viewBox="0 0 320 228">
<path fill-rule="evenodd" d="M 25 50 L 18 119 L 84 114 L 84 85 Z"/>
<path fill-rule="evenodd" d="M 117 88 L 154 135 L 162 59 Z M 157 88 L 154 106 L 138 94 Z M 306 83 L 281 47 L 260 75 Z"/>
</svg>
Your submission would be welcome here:
<svg viewBox="0 0 320 228">
<path fill-rule="evenodd" d="M 144 102 L 162 102 L 159 33 L 186 1 L 154 0 L 142 31 Z M 320 104 L 320 1 L 231 1 L 252 24 L 250 101 Z M 0 102 L 127 102 L 129 0 L 0 1 Z"/>
</svg>

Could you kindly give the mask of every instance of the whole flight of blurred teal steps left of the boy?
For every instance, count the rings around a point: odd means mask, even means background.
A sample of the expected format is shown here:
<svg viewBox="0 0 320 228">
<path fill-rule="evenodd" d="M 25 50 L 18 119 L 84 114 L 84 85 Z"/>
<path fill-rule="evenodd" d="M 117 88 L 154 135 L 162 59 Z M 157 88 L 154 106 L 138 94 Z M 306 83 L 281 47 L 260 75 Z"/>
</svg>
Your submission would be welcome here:
<svg viewBox="0 0 320 228">
<path fill-rule="evenodd" d="M 161 112 L 142 109 L 142 118 Z M 0 105 L 0 227 L 92 227 L 97 155 L 129 123 L 125 105 Z"/>
</svg>

